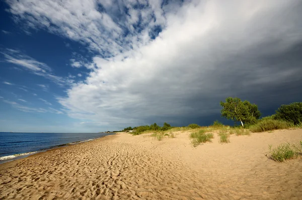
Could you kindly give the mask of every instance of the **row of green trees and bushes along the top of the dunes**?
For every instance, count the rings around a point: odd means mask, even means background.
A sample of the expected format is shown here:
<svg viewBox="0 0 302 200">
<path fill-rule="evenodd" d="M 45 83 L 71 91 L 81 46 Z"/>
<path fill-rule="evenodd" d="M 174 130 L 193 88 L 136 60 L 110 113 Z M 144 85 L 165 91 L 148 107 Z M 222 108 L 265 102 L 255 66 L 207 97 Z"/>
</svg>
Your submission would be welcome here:
<svg viewBox="0 0 302 200">
<path fill-rule="evenodd" d="M 248 128 L 252 125 L 257 124 L 276 124 L 277 121 L 288 122 L 291 126 L 302 126 L 302 102 L 293 102 L 288 105 L 281 105 L 275 112 L 275 114 L 266 116 L 260 119 L 261 113 L 258 110 L 256 104 L 251 104 L 249 101 L 241 101 L 241 99 L 235 97 L 228 97 L 225 99 L 225 102 L 220 102 L 222 106 L 221 116 L 235 121 L 240 122 L 242 127 Z M 265 122 L 264 122 L 265 121 Z M 223 125 L 219 121 L 215 121 L 213 125 Z M 185 127 L 185 126 L 183 126 Z M 198 124 L 189 124 L 186 126 L 188 128 L 198 128 Z M 135 132 L 134 135 L 137 135 L 141 132 L 147 130 L 154 131 L 165 131 L 173 128 L 169 123 L 165 122 L 163 126 L 159 126 L 157 123 L 151 125 L 142 125 L 135 127 L 126 127 L 123 130 L 118 131 L 107 131 L 107 132 Z"/>
</svg>

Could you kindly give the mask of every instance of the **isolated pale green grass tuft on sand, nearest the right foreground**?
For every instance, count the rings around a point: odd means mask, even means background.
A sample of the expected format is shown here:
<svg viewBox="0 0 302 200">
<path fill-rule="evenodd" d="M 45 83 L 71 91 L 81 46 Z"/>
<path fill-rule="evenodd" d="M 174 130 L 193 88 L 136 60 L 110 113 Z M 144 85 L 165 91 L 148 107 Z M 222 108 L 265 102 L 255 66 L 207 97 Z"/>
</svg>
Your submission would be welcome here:
<svg viewBox="0 0 302 200">
<path fill-rule="evenodd" d="M 294 146 L 291 146 L 289 143 L 281 144 L 275 149 L 272 149 L 272 145 L 269 145 L 269 153 L 271 154 L 270 158 L 277 162 L 294 159 L 299 155 Z"/>
</svg>

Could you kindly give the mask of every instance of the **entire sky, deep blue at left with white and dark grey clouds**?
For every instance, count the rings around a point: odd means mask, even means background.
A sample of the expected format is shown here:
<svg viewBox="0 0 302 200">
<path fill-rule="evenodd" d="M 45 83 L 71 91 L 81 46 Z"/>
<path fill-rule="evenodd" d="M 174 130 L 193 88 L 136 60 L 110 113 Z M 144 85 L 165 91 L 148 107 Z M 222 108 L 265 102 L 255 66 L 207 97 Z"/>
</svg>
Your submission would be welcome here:
<svg viewBox="0 0 302 200">
<path fill-rule="evenodd" d="M 0 1 L 0 131 L 209 125 L 302 100 L 302 1 Z"/>
</svg>

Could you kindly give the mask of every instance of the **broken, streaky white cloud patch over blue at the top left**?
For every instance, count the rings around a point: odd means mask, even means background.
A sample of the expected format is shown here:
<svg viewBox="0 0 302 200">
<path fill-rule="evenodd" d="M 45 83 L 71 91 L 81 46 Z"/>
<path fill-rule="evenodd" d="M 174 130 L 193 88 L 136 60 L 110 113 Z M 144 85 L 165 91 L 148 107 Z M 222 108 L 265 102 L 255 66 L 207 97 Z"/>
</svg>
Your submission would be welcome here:
<svg viewBox="0 0 302 200">
<path fill-rule="evenodd" d="M 88 44 L 90 49 L 104 56 L 117 55 L 145 44 L 149 32 L 157 26 L 166 25 L 165 7 L 161 8 L 161 1 L 130 0 L 112 4 L 94 0 L 10 0 L 7 4 L 15 21 L 24 23 L 27 32 L 30 29 L 45 29 Z M 139 7 L 142 9 L 137 9 Z M 136 26 L 140 28 L 135 29 Z M 78 63 L 75 65 L 78 66 Z"/>
</svg>

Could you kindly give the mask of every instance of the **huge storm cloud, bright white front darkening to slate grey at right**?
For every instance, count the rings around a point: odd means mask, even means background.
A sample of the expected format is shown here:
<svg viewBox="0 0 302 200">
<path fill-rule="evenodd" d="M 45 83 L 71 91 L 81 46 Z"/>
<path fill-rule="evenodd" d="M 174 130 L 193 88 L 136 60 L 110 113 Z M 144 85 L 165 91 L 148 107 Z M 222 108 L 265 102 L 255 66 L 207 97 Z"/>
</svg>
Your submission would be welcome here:
<svg viewBox="0 0 302 200">
<path fill-rule="evenodd" d="M 69 116 L 113 128 L 160 121 L 205 124 L 219 117 L 219 101 L 229 96 L 256 103 L 264 113 L 301 100 L 301 1 L 192 1 L 165 5 L 165 11 L 161 1 L 148 5 L 127 10 L 123 25 L 108 21 L 104 27 L 114 31 L 95 43 L 87 40 L 90 48 L 115 56 L 93 57 L 96 68 L 85 83 L 73 85 L 58 99 Z M 83 12 L 89 6 L 95 9 L 87 4 Z M 102 11 L 113 6 L 103 5 Z M 51 13 L 51 8 L 44 10 Z M 47 18 L 53 21 L 51 15 Z M 68 35 L 57 23 L 61 35 L 81 41 L 97 37 L 99 29 L 90 35 L 72 26 L 85 28 L 81 20 L 95 18 L 73 18 L 69 31 L 75 34 Z M 123 46 L 102 44 L 104 38 L 123 43 L 125 34 L 119 30 L 131 30 L 142 19 L 143 30 L 127 34 L 122 51 Z M 156 23 L 149 26 L 152 19 Z M 161 29 L 149 34 L 158 25 Z"/>
</svg>

